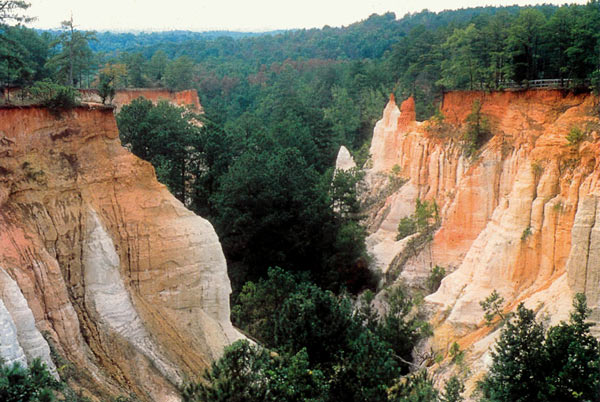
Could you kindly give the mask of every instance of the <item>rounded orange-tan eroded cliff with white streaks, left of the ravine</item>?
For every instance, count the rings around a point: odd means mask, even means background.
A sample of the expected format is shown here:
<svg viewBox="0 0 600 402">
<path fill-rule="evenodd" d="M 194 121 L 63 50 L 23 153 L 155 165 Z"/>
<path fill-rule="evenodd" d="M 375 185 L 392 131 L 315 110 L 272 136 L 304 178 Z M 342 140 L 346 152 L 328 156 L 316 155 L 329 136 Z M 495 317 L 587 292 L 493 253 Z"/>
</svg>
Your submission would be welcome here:
<svg viewBox="0 0 600 402">
<path fill-rule="evenodd" d="M 0 356 L 102 400 L 175 401 L 240 338 L 230 291 L 212 226 L 121 146 L 111 108 L 0 109 Z"/>
</svg>

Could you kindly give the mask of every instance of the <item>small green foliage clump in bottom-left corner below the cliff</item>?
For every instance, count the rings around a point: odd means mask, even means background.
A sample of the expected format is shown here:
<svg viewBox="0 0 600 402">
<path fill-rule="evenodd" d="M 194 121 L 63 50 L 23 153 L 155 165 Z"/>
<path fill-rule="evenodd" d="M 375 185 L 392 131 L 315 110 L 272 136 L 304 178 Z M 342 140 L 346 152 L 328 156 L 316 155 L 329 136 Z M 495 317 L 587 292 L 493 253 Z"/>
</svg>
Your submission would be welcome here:
<svg viewBox="0 0 600 402">
<path fill-rule="evenodd" d="M 0 400 L 6 402 L 55 401 L 54 392 L 61 385 L 48 372 L 45 364 L 34 359 L 28 368 L 18 363 L 0 367 Z"/>
</svg>

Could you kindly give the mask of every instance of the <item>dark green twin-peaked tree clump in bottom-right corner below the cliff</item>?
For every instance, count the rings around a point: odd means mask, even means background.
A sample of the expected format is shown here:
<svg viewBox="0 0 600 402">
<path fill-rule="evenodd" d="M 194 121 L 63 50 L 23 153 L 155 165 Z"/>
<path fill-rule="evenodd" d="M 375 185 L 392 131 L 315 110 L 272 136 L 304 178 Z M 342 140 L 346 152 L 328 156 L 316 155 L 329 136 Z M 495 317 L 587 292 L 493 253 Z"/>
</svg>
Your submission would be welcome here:
<svg viewBox="0 0 600 402">
<path fill-rule="evenodd" d="M 590 310 L 577 294 L 569 323 L 546 333 L 521 303 L 506 323 L 493 363 L 479 384 L 488 401 L 579 401 L 600 397 L 600 349 L 587 323 Z"/>
</svg>

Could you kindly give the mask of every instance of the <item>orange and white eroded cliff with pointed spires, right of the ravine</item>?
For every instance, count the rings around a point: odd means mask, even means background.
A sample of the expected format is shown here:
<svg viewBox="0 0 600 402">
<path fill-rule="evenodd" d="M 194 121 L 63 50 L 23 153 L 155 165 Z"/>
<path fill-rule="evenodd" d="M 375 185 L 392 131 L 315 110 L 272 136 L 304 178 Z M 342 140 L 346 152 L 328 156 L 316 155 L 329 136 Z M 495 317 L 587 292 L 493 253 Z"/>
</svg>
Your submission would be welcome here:
<svg viewBox="0 0 600 402">
<path fill-rule="evenodd" d="M 490 130 L 467 156 L 474 102 Z M 485 325 L 480 301 L 496 290 L 504 312 L 523 302 L 547 325 L 567 320 L 583 292 L 600 322 L 600 121 L 598 98 L 561 90 L 444 94 L 441 114 L 417 122 L 412 98 L 393 96 L 374 129 L 366 164 L 372 268 L 380 286 L 425 289 L 433 267 L 449 273 L 425 298 L 434 335 L 419 352 L 438 385 L 459 373 L 470 394 L 491 362 L 500 329 Z M 569 133 L 582 134 L 571 143 Z M 341 152 L 338 168 L 351 166 Z M 435 201 L 439 228 L 423 244 L 396 240 L 416 200 Z M 415 245 L 416 244 L 416 245 Z M 425 292 L 426 293 L 426 292 Z M 600 334 L 594 328 L 595 334 Z M 452 363 L 456 342 L 464 363 Z"/>
</svg>

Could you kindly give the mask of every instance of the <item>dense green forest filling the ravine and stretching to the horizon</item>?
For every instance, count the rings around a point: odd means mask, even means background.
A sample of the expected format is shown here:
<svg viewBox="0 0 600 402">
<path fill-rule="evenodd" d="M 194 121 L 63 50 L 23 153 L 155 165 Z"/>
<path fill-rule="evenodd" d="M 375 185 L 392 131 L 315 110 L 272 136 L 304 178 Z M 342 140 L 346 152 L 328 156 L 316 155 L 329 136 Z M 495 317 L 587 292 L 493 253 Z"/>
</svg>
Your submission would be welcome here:
<svg viewBox="0 0 600 402">
<path fill-rule="evenodd" d="M 24 4 L 0 1 L 8 3 Z M 260 35 L 94 33 L 73 20 L 35 31 L 18 24 L 18 12 L 0 18 L 0 83 L 48 105 L 76 103 L 69 87 L 96 87 L 108 102 L 122 87 L 198 91 L 203 115 L 144 99 L 117 115 L 123 143 L 215 226 L 234 289 L 232 319 L 262 345 L 228 348 L 205 381 L 183 390 L 186 400 L 462 400 L 460 378 L 438 391 L 415 371 L 422 362 L 412 350 L 430 334 L 422 295 L 392 289 L 383 311 L 372 307 L 378 278 L 368 269 L 361 172 L 334 174 L 336 153 L 346 145 L 359 166 L 367 160 L 390 93 L 414 96 L 424 119 L 451 89 L 527 88 L 537 79 L 559 79 L 565 90 L 600 85 L 598 1 L 387 13 Z M 584 323 L 585 300 L 575 302 L 571 321 L 548 330 L 522 306 L 504 317 L 483 400 L 598 397 L 598 344 Z M 527 350 L 529 360 L 515 367 L 514 353 Z M 511 383 L 536 367 L 539 380 Z"/>
</svg>

